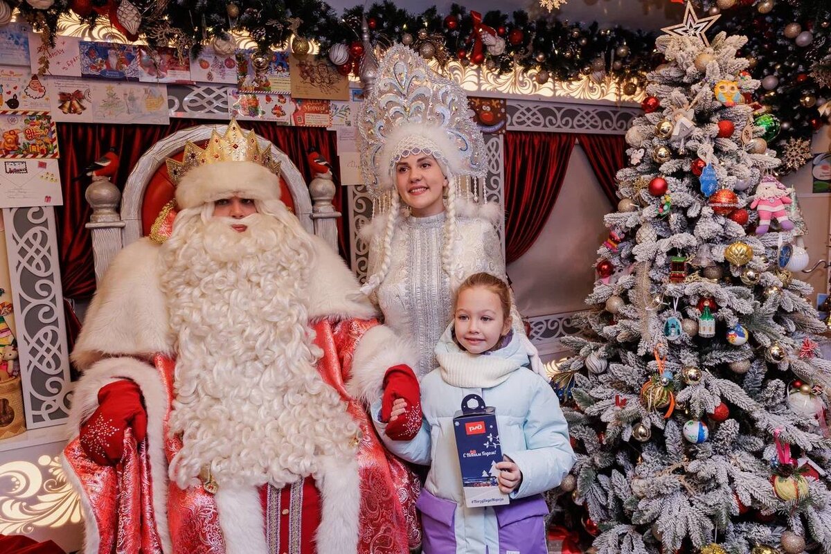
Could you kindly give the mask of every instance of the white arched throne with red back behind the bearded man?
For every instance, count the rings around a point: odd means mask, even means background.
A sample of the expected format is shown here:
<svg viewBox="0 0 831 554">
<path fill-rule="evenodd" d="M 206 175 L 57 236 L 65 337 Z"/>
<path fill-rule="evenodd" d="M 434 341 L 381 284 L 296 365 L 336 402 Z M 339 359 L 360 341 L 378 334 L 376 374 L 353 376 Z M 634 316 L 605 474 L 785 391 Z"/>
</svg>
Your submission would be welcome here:
<svg viewBox="0 0 831 554">
<path fill-rule="evenodd" d="M 121 248 L 150 234 L 156 216 L 173 199 L 175 185 L 167 173 L 165 159 L 181 159 L 186 142 L 204 146 L 214 130 L 224 135 L 227 129 L 228 125 L 196 125 L 160 140 L 135 164 L 123 195 L 109 179 L 93 179 L 86 189 L 86 200 L 92 207 L 86 228 L 92 233 L 96 282 L 101 281 Z M 273 159 L 280 162 L 283 203 L 293 211 L 303 228 L 337 250 L 336 218 L 341 214 L 332 206 L 336 192 L 334 183 L 331 179 L 317 178 L 307 187 L 297 166 L 282 150 L 259 135 L 257 139 L 261 145 L 268 145 Z"/>
</svg>

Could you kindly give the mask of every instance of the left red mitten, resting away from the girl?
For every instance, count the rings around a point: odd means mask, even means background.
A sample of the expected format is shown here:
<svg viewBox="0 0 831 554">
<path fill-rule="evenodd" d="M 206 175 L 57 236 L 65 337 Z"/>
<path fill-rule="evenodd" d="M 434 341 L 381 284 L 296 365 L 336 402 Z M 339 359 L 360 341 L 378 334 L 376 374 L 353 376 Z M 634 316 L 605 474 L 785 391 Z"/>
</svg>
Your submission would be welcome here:
<svg viewBox="0 0 831 554">
<path fill-rule="evenodd" d="M 130 380 L 101 387 L 98 409 L 81 424 L 81 448 L 99 465 L 116 465 L 124 449 L 124 431 L 133 429 L 136 442 L 147 434 L 147 412 L 141 390 Z"/>
</svg>

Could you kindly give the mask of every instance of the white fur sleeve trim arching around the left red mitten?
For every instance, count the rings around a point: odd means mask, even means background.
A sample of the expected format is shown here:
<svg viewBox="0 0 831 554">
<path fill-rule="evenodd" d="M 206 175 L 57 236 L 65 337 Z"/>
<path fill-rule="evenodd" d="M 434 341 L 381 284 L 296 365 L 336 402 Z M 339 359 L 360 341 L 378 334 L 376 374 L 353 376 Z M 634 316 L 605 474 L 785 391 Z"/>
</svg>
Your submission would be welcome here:
<svg viewBox="0 0 831 554">
<path fill-rule="evenodd" d="M 167 459 L 165 457 L 164 420 L 168 411 L 168 400 L 165 387 L 162 385 L 158 371 L 150 364 L 130 357 L 108 358 L 93 365 L 81 375 L 74 395 L 72 408 L 67 419 L 71 439 L 74 439 L 85 421 L 98 408 L 98 391 L 104 385 L 117 380 L 129 379 L 139 385 L 141 395 L 147 409 L 147 451 L 150 458 L 150 478 L 153 486 L 153 511 L 155 513 L 156 530 L 165 552 L 173 552 L 170 543 L 170 530 L 167 526 Z M 73 473 L 74 475 L 74 473 Z M 164 483 L 159 486 L 158 483 Z M 80 483 L 75 483 L 78 491 Z M 81 495 L 83 496 L 83 495 Z M 85 509 L 89 509 L 87 505 Z M 92 542 L 98 542 L 98 529 L 94 524 L 95 517 L 91 512 L 86 513 L 86 552 L 92 550 Z M 90 526 L 89 522 L 93 522 Z M 93 534 L 94 533 L 94 534 Z M 91 537 L 96 537 L 91 540 Z"/>
</svg>

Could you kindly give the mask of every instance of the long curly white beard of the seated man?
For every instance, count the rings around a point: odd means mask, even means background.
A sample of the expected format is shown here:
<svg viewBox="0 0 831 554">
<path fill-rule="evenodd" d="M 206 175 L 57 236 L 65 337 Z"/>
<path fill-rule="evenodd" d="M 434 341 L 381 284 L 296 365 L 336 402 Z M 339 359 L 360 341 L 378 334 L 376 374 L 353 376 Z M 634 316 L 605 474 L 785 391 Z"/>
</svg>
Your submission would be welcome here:
<svg viewBox="0 0 831 554">
<path fill-rule="evenodd" d="M 305 232 L 288 213 L 248 216 L 245 233 L 200 216 L 180 213 L 163 247 L 178 350 L 170 431 L 183 443 L 170 477 L 185 488 L 210 468 L 220 486 L 283 487 L 322 456 L 352 458 L 357 425 L 317 372 L 307 325 Z"/>
</svg>

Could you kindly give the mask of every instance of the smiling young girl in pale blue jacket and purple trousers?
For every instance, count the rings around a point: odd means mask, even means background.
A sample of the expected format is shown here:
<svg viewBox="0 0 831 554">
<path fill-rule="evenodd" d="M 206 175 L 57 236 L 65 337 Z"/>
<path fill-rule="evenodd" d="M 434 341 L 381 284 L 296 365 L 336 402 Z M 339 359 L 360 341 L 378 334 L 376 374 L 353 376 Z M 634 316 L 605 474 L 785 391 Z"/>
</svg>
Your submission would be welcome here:
<svg viewBox="0 0 831 554">
<path fill-rule="evenodd" d="M 454 319 L 435 347 L 439 367 L 421 380 L 424 423 L 411 441 L 395 441 L 386 423 L 418 406 L 403 399 L 373 419 L 387 448 L 413 463 L 432 464 L 416 503 L 425 554 L 545 554 L 542 494 L 557 487 L 574 463 L 568 428 L 551 386 L 529 370 L 529 352 L 511 330 L 508 286 L 475 273 L 459 287 Z M 453 416 L 476 394 L 496 409 L 504 461 L 499 488 L 510 503 L 465 507 Z M 387 417 L 388 416 L 388 417 Z M 382 421 L 383 419 L 383 421 Z"/>
</svg>

